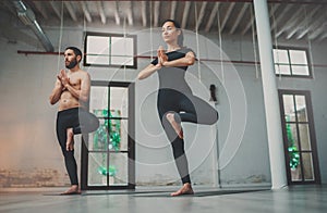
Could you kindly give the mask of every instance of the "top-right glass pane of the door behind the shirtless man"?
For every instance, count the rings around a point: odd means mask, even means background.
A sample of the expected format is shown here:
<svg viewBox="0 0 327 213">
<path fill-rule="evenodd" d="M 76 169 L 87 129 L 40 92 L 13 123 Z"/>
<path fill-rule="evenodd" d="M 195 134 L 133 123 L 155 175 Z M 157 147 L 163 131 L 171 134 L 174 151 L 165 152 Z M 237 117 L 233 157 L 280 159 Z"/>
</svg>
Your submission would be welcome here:
<svg viewBox="0 0 327 213">
<path fill-rule="evenodd" d="M 118 116 L 128 117 L 129 89 L 123 87 L 110 87 L 110 110 L 118 112 Z"/>
</svg>

